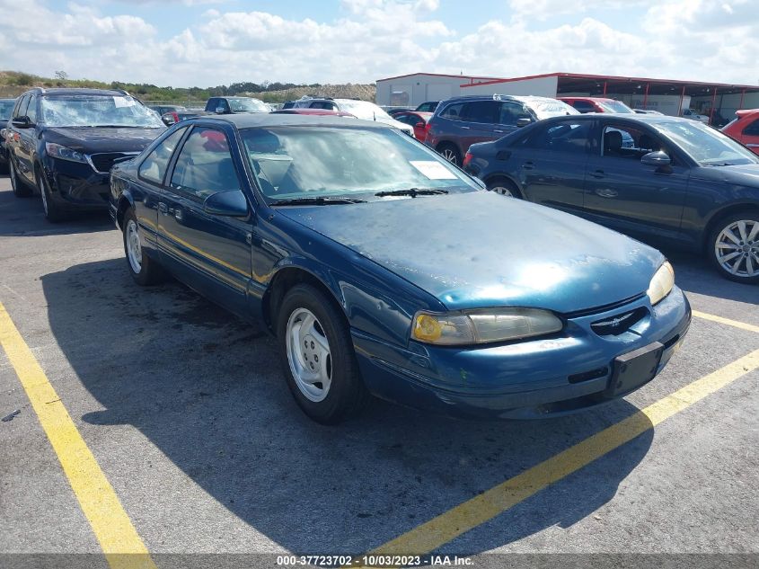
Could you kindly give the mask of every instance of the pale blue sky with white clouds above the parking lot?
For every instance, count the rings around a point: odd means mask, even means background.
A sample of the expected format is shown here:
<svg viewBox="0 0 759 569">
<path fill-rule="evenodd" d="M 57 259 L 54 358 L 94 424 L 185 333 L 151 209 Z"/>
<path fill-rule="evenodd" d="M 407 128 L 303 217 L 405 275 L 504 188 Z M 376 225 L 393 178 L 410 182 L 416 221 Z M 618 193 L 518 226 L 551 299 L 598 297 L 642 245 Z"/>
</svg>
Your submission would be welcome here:
<svg viewBox="0 0 759 569">
<path fill-rule="evenodd" d="M 554 71 L 759 84 L 757 0 L 0 0 L 0 69 L 173 86 Z"/>
</svg>

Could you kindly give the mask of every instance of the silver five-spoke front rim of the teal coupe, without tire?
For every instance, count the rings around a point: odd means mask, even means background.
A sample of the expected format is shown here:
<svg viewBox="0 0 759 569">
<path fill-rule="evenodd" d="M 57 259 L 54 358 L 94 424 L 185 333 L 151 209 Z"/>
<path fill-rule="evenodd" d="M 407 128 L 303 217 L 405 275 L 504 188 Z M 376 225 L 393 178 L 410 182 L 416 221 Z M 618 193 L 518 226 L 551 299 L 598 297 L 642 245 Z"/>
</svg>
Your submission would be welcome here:
<svg viewBox="0 0 759 569">
<path fill-rule="evenodd" d="M 323 401 L 332 383 L 330 342 L 306 308 L 296 308 L 287 321 L 287 362 L 300 392 L 314 403 Z"/>
</svg>

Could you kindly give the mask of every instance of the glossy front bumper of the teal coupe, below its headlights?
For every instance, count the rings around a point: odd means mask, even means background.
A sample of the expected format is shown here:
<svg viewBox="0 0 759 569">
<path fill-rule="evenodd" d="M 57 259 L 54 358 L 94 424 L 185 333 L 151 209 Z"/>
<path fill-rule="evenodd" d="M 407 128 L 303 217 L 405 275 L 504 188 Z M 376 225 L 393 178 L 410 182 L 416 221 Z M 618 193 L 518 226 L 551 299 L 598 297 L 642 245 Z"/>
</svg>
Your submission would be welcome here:
<svg viewBox="0 0 759 569">
<path fill-rule="evenodd" d="M 590 327 L 644 308 L 647 316 L 619 335 L 601 336 Z M 352 335 L 366 387 L 376 396 L 450 415 L 529 419 L 577 412 L 627 395 L 606 395 L 613 360 L 661 342 L 658 374 L 680 347 L 690 322 L 690 305 L 675 287 L 656 307 L 639 298 L 570 318 L 562 333 L 533 341 L 477 348 L 410 342 L 400 348 L 357 331 Z"/>
</svg>

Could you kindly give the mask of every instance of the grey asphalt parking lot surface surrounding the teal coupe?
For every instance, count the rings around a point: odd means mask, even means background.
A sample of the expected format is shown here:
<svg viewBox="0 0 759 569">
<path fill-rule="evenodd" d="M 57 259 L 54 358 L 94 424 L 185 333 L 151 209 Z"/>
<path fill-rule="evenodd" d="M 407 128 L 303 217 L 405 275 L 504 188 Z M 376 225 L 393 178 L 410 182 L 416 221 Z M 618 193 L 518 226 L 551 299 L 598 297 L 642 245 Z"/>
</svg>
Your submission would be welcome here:
<svg viewBox="0 0 759 569">
<path fill-rule="evenodd" d="M 176 565 L 166 554 L 274 554 L 277 565 L 372 551 L 474 565 L 514 553 L 726 554 L 676 566 L 756 566 L 759 288 L 666 253 L 699 316 L 631 396 L 540 422 L 377 401 L 323 427 L 292 401 L 261 328 L 177 282 L 138 288 L 107 215 L 50 225 L 0 176 L 0 416 L 21 412 L 0 422 L 0 559 L 91 553 L 93 566 L 116 566 L 103 550 L 134 551 L 137 539 L 158 567 Z M 31 355 L 9 348 L 19 345 Z M 110 491 L 72 489 L 76 463 L 61 457 L 71 441 L 54 449 L 31 405 L 45 378 L 57 399 L 42 407 L 67 411 L 118 498 L 98 515 L 81 502 Z M 131 541 L 108 517 L 119 508 Z"/>
</svg>

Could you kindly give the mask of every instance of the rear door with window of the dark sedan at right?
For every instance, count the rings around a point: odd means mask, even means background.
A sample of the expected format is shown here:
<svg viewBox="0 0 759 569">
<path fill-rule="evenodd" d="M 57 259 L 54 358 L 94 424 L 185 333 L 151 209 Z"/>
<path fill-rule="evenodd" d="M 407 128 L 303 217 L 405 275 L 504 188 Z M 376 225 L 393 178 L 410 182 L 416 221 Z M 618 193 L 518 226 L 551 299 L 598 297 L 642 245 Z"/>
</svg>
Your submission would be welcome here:
<svg viewBox="0 0 759 569">
<path fill-rule="evenodd" d="M 513 146 L 509 161 L 525 199 L 577 213 L 595 121 L 567 118 L 536 125 Z"/>
</svg>

